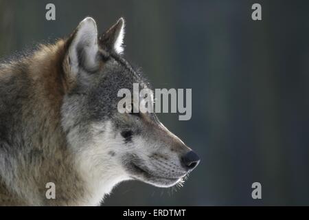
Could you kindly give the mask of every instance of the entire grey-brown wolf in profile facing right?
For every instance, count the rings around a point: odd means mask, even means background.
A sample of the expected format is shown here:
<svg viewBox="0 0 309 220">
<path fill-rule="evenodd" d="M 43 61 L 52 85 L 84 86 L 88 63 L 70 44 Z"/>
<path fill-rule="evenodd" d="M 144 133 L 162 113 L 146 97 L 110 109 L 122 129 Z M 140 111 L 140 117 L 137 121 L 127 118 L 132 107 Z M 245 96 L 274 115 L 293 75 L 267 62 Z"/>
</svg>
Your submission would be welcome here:
<svg viewBox="0 0 309 220">
<path fill-rule="evenodd" d="M 123 18 L 98 34 L 87 17 L 67 38 L 1 63 L 0 205 L 98 206 L 122 181 L 170 187 L 198 165 L 155 113 L 117 111 L 119 89 L 151 88 L 123 39 Z"/>
</svg>

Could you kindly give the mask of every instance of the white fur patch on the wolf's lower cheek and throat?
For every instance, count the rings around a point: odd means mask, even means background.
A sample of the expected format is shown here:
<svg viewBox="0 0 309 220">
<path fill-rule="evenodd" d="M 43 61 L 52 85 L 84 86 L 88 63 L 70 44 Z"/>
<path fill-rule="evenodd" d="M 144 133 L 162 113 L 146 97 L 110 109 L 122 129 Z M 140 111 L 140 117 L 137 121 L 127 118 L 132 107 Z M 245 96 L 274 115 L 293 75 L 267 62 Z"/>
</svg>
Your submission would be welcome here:
<svg viewBox="0 0 309 220">
<path fill-rule="evenodd" d="M 77 154 L 76 162 L 87 184 L 87 206 L 96 206 L 113 187 L 129 178 L 117 160 L 108 154 L 115 144 L 111 122 L 93 124 L 91 133 L 93 141 L 82 146 L 84 151 Z"/>
</svg>

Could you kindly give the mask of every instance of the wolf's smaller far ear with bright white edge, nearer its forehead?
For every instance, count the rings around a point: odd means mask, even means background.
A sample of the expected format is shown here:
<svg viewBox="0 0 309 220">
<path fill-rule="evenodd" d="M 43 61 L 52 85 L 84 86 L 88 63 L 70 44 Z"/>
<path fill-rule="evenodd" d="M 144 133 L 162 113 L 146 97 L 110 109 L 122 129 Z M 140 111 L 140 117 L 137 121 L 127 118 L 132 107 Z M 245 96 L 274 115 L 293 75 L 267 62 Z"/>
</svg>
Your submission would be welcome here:
<svg viewBox="0 0 309 220">
<path fill-rule="evenodd" d="M 108 51 L 122 54 L 124 47 L 124 19 L 120 18 L 111 28 L 100 36 L 100 45 Z"/>
</svg>

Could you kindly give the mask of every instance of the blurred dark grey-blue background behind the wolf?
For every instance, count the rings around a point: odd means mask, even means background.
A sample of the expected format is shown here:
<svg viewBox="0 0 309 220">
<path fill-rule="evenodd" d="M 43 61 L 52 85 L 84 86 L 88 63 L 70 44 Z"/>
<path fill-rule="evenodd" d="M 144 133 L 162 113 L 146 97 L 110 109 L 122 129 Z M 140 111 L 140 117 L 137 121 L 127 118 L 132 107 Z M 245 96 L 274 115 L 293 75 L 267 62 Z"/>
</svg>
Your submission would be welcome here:
<svg viewBox="0 0 309 220">
<path fill-rule="evenodd" d="M 45 5 L 56 5 L 56 21 Z M 251 5 L 262 5 L 262 21 Z M 176 190 L 120 184 L 104 206 L 309 205 L 308 1 L 3 1 L 0 56 L 126 19 L 125 57 L 155 88 L 192 88 L 192 119 L 159 115 L 201 156 Z M 262 184 L 262 199 L 251 184 Z M 175 192 L 176 191 L 176 192 Z"/>
</svg>

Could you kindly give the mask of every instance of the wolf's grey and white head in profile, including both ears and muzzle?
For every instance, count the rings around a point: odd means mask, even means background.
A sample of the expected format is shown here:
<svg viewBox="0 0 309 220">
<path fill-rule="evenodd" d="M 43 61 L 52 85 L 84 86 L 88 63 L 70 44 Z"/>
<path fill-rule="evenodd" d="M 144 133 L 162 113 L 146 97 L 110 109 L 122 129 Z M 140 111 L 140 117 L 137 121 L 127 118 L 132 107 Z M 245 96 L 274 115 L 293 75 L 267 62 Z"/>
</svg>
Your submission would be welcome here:
<svg viewBox="0 0 309 220">
<path fill-rule="evenodd" d="M 124 19 L 98 36 L 95 21 L 86 18 L 71 34 L 63 63 L 67 93 L 62 128 L 93 187 L 111 190 L 126 179 L 173 186 L 197 166 L 198 156 L 155 113 L 117 110 L 119 89 L 133 93 L 133 83 L 150 88 L 122 57 L 123 38 Z"/>
</svg>

